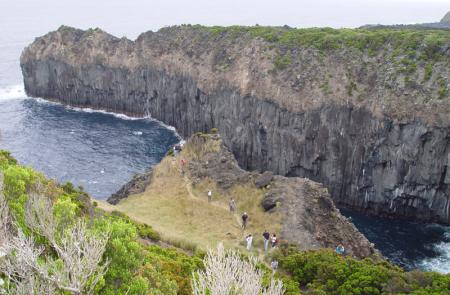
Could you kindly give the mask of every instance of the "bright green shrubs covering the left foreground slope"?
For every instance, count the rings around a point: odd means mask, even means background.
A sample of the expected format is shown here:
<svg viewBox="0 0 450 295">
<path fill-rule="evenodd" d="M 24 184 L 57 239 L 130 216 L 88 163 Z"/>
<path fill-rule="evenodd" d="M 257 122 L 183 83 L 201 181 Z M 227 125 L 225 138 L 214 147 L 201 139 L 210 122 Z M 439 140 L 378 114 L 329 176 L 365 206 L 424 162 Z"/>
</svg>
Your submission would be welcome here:
<svg viewBox="0 0 450 295">
<path fill-rule="evenodd" d="M 63 243 L 64 239 L 71 237 L 71 235 L 66 235 L 67 233 L 73 233 L 74 230 L 76 232 L 80 228 L 84 229 L 85 233 L 81 236 L 92 235 L 95 241 L 101 240 L 105 234 L 108 236 L 108 240 L 102 248 L 101 261 L 98 264 L 99 266 L 107 265 L 107 269 L 105 272 L 101 269 L 95 272 L 99 274 L 98 277 L 93 276 L 94 273 L 88 276 L 87 281 L 84 281 L 81 287 L 81 293 L 191 294 L 190 275 L 202 266 L 201 253 L 189 256 L 171 249 L 146 246 L 145 243 L 140 242 L 140 238 L 150 237 L 153 240 L 159 238 L 151 227 L 137 224 L 123 214 L 105 214 L 95 209 L 86 193 L 75 189 L 72 184 L 58 186 L 32 169 L 17 165 L 9 153 L 3 151 L 0 152 L 0 175 L 4 178 L 3 189 L 0 188 L 4 199 L 0 200 L 0 205 L 4 206 L 6 202 L 10 219 L 13 221 L 8 228 L 14 224 L 18 226 L 11 232 L 11 235 L 15 236 L 11 237 L 11 243 L 6 243 L 8 241 L 3 239 L 3 234 L 0 241 L 0 252 L 11 253 L 11 256 L 7 256 L 7 260 L 0 258 L 0 278 L 6 282 L 8 294 L 29 294 L 30 291 L 30 289 L 23 289 L 27 286 L 18 285 L 18 282 L 23 280 L 17 280 L 17 276 L 10 277 L 6 272 L 6 270 L 12 269 L 11 263 L 17 261 L 13 258 L 22 257 L 22 252 L 17 251 L 20 248 L 16 247 L 17 249 L 12 252 L 9 251 L 12 249 L 10 246 L 14 245 L 12 241 L 20 238 L 20 234 L 17 236 L 18 232 L 25 234 L 19 241 L 27 241 L 27 244 L 30 245 L 27 249 L 34 249 L 33 253 L 37 253 L 34 256 L 36 258 L 34 267 L 39 266 L 38 269 L 44 270 L 42 273 L 48 274 L 49 277 L 60 278 L 59 283 L 54 284 L 52 289 L 36 289 L 36 285 L 33 290 L 39 294 L 67 294 L 67 292 L 79 294 L 80 290 L 69 288 L 76 285 L 74 282 L 68 281 L 69 278 L 74 280 L 77 277 L 73 276 L 72 270 L 63 272 L 69 264 L 62 259 L 64 255 L 61 255 L 58 248 L 63 249 L 61 245 L 74 245 L 71 242 Z M 36 207 L 36 204 L 46 204 L 43 208 L 47 210 L 39 209 L 40 205 Z M 30 208 L 35 209 L 30 211 Z M 39 211 L 36 211 L 38 209 Z M 1 212 L 3 211 L 0 210 Z M 39 214 L 30 214 L 30 212 Z M 31 218 L 33 216 L 40 216 L 39 220 L 44 223 L 36 220 L 33 222 L 33 218 Z M 46 217 L 42 218 L 42 216 Z M 77 226 L 79 222 L 83 226 Z M 68 231 L 67 228 L 73 230 Z M 49 231 L 50 229 L 54 229 L 54 231 Z M 88 232 L 90 234 L 87 234 Z M 37 251 L 39 249 L 42 251 Z M 32 262 L 27 261 L 29 264 Z M 7 267 L 6 270 L 4 267 Z M 24 270 L 26 269 L 23 269 L 22 272 Z M 67 276 L 55 276 L 55 271 L 56 274 L 67 274 Z M 25 283 L 37 284 L 40 282 L 42 286 L 52 286 L 48 280 L 42 282 L 40 276 L 31 276 L 34 271 L 29 271 L 29 273 L 29 277 L 35 280 L 33 282 L 25 280 Z M 51 275 L 52 273 L 53 275 Z M 0 289 L 0 294 L 2 292 Z"/>
</svg>

